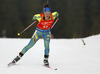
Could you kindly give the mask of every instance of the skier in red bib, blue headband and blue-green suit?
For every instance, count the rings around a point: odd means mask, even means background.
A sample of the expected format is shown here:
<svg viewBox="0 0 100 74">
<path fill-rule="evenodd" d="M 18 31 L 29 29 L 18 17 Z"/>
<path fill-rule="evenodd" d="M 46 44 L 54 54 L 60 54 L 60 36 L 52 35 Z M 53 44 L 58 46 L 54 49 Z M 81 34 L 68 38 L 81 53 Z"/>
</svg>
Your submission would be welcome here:
<svg viewBox="0 0 100 74">
<path fill-rule="evenodd" d="M 44 65 L 49 66 L 48 58 L 49 58 L 49 43 L 50 43 L 50 30 L 52 27 L 52 24 L 54 23 L 54 19 L 58 17 L 58 12 L 51 13 L 51 9 L 48 4 L 43 5 L 43 13 L 42 14 L 36 14 L 33 16 L 33 20 L 37 20 L 38 24 L 36 26 L 36 30 L 28 43 L 22 51 L 19 53 L 19 55 L 14 58 L 14 60 L 11 62 L 12 64 L 15 64 L 20 60 L 20 58 L 32 47 L 34 44 L 41 38 L 41 36 L 44 39 L 44 47 L 45 47 L 45 53 L 44 53 Z M 11 64 L 10 63 L 10 64 Z"/>
</svg>

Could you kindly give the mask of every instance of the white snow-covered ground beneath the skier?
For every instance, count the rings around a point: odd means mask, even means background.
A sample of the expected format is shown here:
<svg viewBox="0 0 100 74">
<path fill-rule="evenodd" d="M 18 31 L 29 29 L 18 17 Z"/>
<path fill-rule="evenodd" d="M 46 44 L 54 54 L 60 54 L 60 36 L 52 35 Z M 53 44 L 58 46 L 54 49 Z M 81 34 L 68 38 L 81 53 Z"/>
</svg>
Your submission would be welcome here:
<svg viewBox="0 0 100 74">
<path fill-rule="evenodd" d="M 30 39 L 0 38 L 0 74 L 100 74 L 100 35 L 81 39 L 51 39 L 49 62 L 43 66 L 40 39 L 16 65 L 7 67 Z"/>
</svg>

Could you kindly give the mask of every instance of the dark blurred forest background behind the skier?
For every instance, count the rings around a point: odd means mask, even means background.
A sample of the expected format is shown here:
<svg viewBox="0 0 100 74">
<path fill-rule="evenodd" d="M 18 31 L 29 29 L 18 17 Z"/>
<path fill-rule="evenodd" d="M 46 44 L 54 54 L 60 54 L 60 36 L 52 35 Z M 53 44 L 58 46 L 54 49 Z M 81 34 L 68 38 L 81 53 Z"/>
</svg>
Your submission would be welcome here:
<svg viewBox="0 0 100 74">
<path fill-rule="evenodd" d="M 0 0 L 0 37 L 18 38 L 33 22 L 35 14 L 43 12 L 46 0 Z M 81 38 L 100 34 L 100 0 L 50 0 L 52 12 L 59 13 L 59 21 L 51 30 L 55 38 Z M 36 24 L 20 38 L 30 38 Z"/>
</svg>

